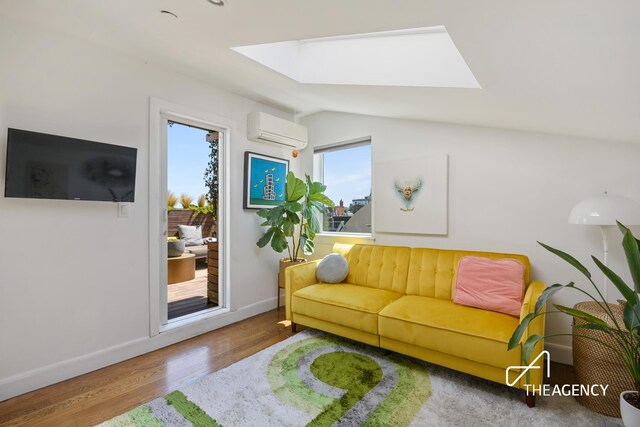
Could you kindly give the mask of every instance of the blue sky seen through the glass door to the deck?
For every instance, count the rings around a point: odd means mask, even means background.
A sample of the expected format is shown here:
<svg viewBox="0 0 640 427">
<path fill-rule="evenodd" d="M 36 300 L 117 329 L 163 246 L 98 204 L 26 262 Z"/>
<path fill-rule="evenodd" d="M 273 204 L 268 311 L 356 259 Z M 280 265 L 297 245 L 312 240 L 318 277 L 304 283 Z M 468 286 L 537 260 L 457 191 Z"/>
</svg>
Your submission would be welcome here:
<svg viewBox="0 0 640 427">
<path fill-rule="evenodd" d="M 210 152 L 207 131 L 175 123 L 167 132 L 167 189 L 178 198 L 186 193 L 196 203 L 201 194 L 208 192 L 204 185 Z"/>
</svg>

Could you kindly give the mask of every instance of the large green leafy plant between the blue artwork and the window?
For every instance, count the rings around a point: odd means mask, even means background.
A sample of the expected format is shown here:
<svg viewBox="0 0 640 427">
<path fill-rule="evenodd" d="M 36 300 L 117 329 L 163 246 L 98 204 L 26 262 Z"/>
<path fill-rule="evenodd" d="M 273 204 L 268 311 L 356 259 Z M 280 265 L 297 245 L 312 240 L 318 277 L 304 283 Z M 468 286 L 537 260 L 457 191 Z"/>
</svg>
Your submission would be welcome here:
<svg viewBox="0 0 640 427">
<path fill-rule="evenodd" d="M 327 212 L 327 207 L 334 206 L 324 195 L 326 185 L 312 182 L 309 175 L 305 177 L 306 182 L 289 172 L 284 203 L 257 212 L 265 219 L 261 225 L 268 228 L 256 244 L 263 248 L 271 242 L 271 247 L 279 253 L 287 249 L 292 262 L 298 260 L 301 249 L 305 255 L 313 253 L 313 239 L 320 231 L 318 217 Z"/>
</svg>

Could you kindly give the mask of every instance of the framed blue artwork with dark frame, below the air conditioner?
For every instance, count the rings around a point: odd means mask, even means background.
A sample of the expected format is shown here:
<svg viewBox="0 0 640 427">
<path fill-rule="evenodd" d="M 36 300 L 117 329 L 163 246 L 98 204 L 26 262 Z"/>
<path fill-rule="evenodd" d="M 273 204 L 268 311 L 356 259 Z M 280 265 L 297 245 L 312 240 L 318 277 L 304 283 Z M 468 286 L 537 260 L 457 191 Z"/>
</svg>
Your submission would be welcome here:
<svg viewBox="0 0 640 427">
<path fill-rule="evenodd" d="M 244 153 L 244 208 L 260 209 L 284 203 L 289 160 Z"/>
</svg>

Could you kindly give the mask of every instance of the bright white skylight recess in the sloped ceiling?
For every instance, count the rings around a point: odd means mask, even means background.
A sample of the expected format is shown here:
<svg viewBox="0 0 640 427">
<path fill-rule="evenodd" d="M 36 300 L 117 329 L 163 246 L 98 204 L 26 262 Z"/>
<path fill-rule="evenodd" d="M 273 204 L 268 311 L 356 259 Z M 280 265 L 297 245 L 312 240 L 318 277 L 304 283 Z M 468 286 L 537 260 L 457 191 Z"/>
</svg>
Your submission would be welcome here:
<svg viewBox="0 0 640 427">
<path fill-rule="evenodd" d="M 444 26 L 232 49 L 299 83 L 480 87 Z"/>
</svg>

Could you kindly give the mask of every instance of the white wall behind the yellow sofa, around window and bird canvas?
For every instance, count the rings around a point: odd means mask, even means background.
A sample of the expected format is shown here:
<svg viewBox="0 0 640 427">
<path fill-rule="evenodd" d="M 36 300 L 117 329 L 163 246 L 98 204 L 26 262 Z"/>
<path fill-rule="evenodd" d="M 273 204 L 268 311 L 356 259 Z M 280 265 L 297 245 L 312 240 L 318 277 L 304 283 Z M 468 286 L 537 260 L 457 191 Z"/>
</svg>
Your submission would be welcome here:
<svg viewBox="0 0 640 427">
<path fill-rule="evenodd" d="M 302 167 L 309 171 L 313 146 L 369 135 L 374 166 L 429 153 L 449 154 L 449 234 L 374 232 L 377 244 L 523 253 L 530 257 L 534 279 L 547 284 L 579 279 L 538 240 L 576 256 L 600 284 L 602 276 L 589 257 L 602 257 L 600 231 L 568 224 L 569 212 L 580 200 L 605 190 L 640 201 L 640 144 L 340 113 L 319 113 L 302 121 L 311 140 L 301 156 Z M 617 243 L 620 234 L 615 229 L 608 234 L 609 265 L 628 278 Z M 326 249 L 330 242 L 322 237 L 322 243 Z M 611 299 L 619 296 L 609 288 Z M 554 302 L 573 306 L 583 300 L 581 294 L 564 291 Z M 566 332 L 566 316 L 547 316 L 547 334 Z M 554 360 L 571 363 L 570 338 L 549 338 L 547 343 Z"/>
</svg>

